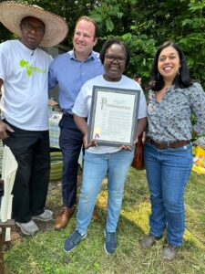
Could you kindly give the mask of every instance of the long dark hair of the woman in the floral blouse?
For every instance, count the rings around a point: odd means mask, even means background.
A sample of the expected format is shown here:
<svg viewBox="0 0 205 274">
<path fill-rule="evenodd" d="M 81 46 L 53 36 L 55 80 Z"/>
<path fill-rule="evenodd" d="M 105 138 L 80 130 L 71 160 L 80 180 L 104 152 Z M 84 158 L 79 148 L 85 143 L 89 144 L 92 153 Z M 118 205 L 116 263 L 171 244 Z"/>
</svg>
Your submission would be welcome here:
<svg viewBox="0 0 205 274">
<path fill-rule="evenodd" d="M 190 70 L 188 68 L 184 53 L 178 45 L 176 45 L 175 43 L 173 43 L 171 41 L 167 41 L 159 47 L 159 49 L 155 55 L 152 69 L 151 69 L 151 79 L 149 82 L 149 89 L 158 91 L 158 90 L 162 90 L 165 85 L 164 79 L 160 75 L 159 70 L 158 70 L 159 55 L 160 55 L 160 52 L 165 47 L 174 47 L 179 54 L 179 61 L 180 61 L 179 74 L 176 75 L 172 84 L 174 84 L 174 86 L 176 88 L 179 87 L 181 89 L 190 87 L 193 83 L 193 80 L 190 79 Z"/>
</svg>

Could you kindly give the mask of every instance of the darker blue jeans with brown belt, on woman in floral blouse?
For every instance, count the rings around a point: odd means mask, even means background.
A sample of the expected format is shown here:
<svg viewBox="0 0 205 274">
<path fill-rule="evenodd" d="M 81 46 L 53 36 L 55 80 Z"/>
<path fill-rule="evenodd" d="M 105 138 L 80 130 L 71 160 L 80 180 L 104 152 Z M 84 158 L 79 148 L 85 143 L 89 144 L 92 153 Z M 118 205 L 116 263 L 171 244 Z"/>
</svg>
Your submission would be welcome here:
<svg viewBox="0 0 205 274">
<path fill-rule="evenodd" d="M 160 237 L 167 228 L 169 244 L 179 247 L 185 227 L 184 189 L 193 163 L 191 145 L 158 149 L 147 142 L 144 158 L 151 201 L 150 233 Z"/>
</svg>

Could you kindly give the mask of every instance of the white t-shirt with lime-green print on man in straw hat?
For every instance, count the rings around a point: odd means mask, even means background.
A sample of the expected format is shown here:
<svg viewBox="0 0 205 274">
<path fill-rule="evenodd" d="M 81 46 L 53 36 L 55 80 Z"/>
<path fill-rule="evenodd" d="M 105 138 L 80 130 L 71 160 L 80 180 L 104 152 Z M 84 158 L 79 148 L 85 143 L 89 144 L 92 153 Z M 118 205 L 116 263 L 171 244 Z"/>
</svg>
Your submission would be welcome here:
<svg viewBox="0 0 205 274">
<path fill-rule="evenodd" d="M 27 131 L 48 129 L 48 66 L 52 58 L 18 40 L 0 44 L 0 79 L 4 81 L 2 117 Z"/>
</svg>

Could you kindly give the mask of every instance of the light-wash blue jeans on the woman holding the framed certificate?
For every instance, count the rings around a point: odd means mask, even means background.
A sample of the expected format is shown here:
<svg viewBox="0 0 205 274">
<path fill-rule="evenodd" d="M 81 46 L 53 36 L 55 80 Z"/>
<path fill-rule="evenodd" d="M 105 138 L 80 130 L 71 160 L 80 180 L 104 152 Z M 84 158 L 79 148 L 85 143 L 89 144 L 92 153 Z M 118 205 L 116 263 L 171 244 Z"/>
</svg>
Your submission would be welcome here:
<svg viewBox="0 0 205 274">
<path fill-rule="evenodd" d="M 133 151 L 117 153 L 85 153 L 83 184 L 77 211 L 77 230 L 87 233 L 102 180 L 108 173 L 108 216 L 106 229 L 116 232 L 124 195 L 124 184 L 133 159 Z"/>
</svg>

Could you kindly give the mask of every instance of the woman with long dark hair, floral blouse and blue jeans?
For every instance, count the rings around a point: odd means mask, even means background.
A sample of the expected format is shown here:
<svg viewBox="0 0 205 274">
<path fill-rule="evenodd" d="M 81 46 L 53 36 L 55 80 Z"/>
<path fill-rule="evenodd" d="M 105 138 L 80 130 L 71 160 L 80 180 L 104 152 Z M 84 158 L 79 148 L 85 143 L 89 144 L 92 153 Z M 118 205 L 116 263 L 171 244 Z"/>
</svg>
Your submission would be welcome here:
<svg viewBox="0 0 205 274">
<path fill-rule="evenodd" d="M 191 124 L 191 114 L 196 123 Z M 167 228 L 162 258 L 173 259 L 184 233 L 184 189 L 190 177 L 194 132 L 205 132 L 205 93 L 190 79 L 182 50 L 172 42 L 159 47 L 151 71 L 148 131 L 144 157 L 150 191 L 149 235 L 139 244 L 151 248 Z"/>
</svg>

